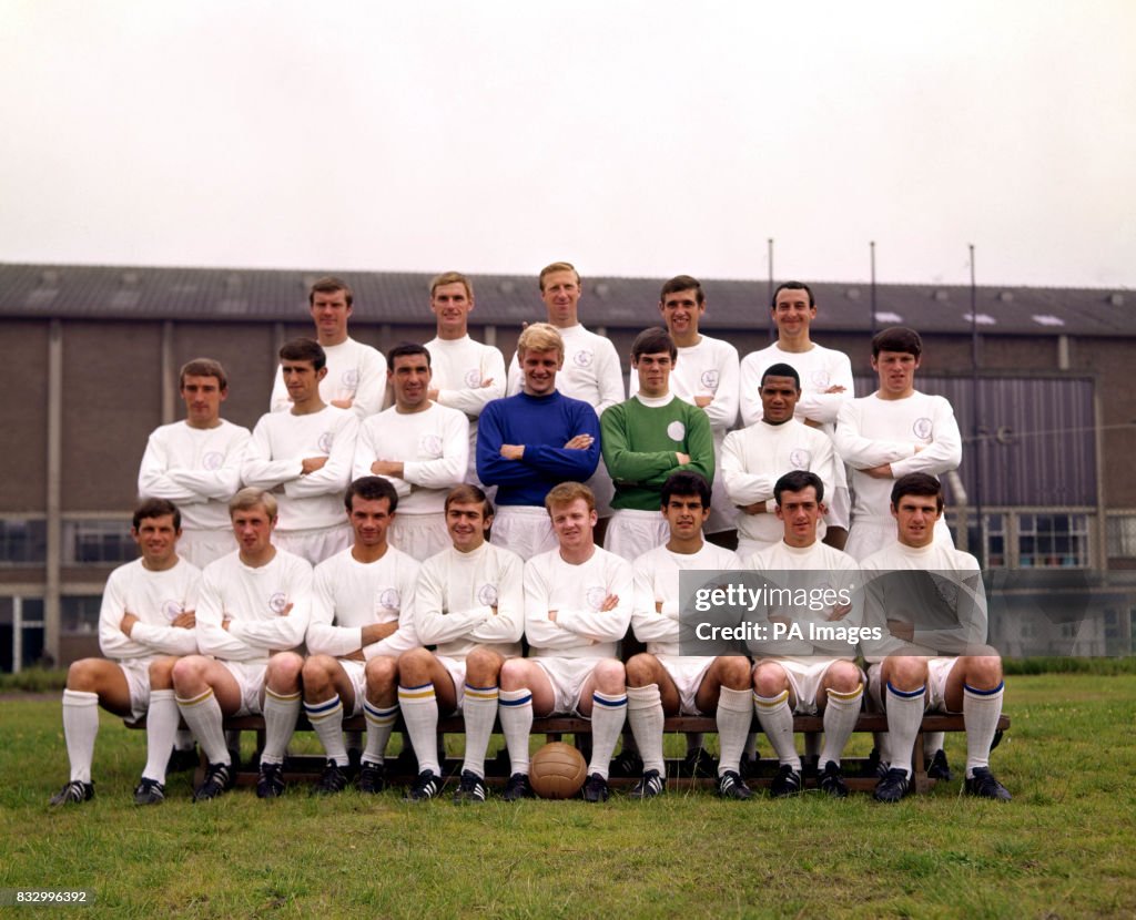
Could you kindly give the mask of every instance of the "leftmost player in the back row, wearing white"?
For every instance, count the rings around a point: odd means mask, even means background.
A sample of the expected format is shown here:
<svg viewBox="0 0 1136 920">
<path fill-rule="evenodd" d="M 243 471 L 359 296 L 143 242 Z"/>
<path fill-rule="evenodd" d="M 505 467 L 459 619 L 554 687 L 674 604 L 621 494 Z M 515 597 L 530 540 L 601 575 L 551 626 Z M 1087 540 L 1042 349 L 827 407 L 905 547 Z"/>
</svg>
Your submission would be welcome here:
<svg viewBox="0 0 1136 920">
<path fill-rule="evenodd" d="M 353 305 L 354 293 L 339 278 L 320 278 L 308 292 L 316 337 L 327 356 L 327 373 L 319 382 L 320 398 L 329 406 L 352 410 L 359 419 L 366 419 L 383 407 L 386 362 L 379 352 L 348 336 Z M 290 398 L 283 373 L 277 374 L 270 411 L 289 408 Z"/>
</svg>

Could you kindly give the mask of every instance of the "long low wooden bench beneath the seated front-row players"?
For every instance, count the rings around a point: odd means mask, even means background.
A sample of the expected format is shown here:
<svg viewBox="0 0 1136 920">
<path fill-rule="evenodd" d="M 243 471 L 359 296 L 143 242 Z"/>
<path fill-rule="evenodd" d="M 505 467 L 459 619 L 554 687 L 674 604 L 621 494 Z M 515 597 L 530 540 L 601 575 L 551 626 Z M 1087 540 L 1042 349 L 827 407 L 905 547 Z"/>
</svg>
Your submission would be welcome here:
<svg viewBox="0 0 1136 920">
<path fill-rule="evenodd" d="M 140 721 L 125 723 L 128 728 L 145 728 L 145 719 Z M 184 725 L 182 727 L 185 727 Z M 1005 732 L 1010 727 L 1010 719 L 1008 716 L 1003 715 L 999 719 L 999 731 Z M 362 716 L 354 716 L 349 719 L 343 720 L 343 728 L 348 732 L 365 732 L 366 723 Z M 404 731 L 401 718 L 395 725 L 396 731 Z M 887 729 L 887 719 L 883 714 L 878 712 L 862 712 L 860 718 L 857 720 L 855 731 L 857 732 L 885 732 Z M 259 751 L 264 746 L 265 742 L 265 720 L 260 716 L 237 716 L 225 719 L 225 731 L 236 731 L 236 732 L 254 732 L 257 735 L 256 750 Z M 299 723 L 296 725 L 296 732 L 310 732 L 311 725 L 308 723 L 307 718 L 301 714 Z M 500 727 L 495 726 L 495 731 L 500 734 Z M 713 718 L 708 718 L 705 716 L 675 716 L 668 718 L 663 724 L 663 731 L 668 733 L 688 733 L 688 732 L 702 732 L 705 734 L 716 734 L 717 725 Z M 758 725 L 758 720 L 753 720 L 753 731 L 759 733 L 759 744 L 761 740 L 761 727 Z M 796 734 L 803 734 L 807 740 L 807 745 L 809 740 L 812 740 L 812 746 L 816 746 L 816 742 L 819 740 L 820 734 L 824 732 L 824 719 L 820 716 L 795 716 L 793 718 L 793 731 Z M 933 785 L 935 780 L 927 776 L 926 765 L 924 763 L 922 753 L 922 733 L 924 732 L 962 732 L 964 731 L 962 716 L 961 715 L 927 715 L 924 716 L 922 726 L 920 728 L 920 734 L 916 740 L 916 746 L 912 758 L 913 767 L 913 791 L 926 792 Z M 463 734 L 465 724 L 460 716 L 442 718 L 438 719 L 438 744 L 442 746 L 442 736 L 448 734 Z M 546 741 L 561 741 L 566 735 L 571 735 L 574 743 L 577 748 L 580 748 L 585 752 L 591 746 L 591 735 L 592 735 L 592 723 L 587 719 L 570 717 L 570 716 L 551 716 L 548 718 L 536 718 L 533 720 L 533 734 L 544 735 Z M 630 728 L 625 728 L 625 734 L 630 734 Z M 767 743 L 768 744 L 768 743 Z M 768 746 L 767 746 L 768 750 Z M 803 759 L 804 762 L 804 783 L 805 787 L 815 786 L 817 783 L 817 765 L 815 760 L 809 758 Z M 290 783 L 304 783 L 315 782 L 319 778 L 319 774 L 324 768 L 325 758 L 321 754 L 290 754 L 284 763 L 284 775 L 285 779 Z M 844 771 L 845 782 L 849 788 L 860 790 L 860 791 L 871 791 L 876 786 L 878 779 L 876 774 L 876 765 L 868 758 L 849 758 L 842 759 L 842 768 Z M 960 765 L 955 765 L 959 768 Z M 704 786 L 711 785 L 715 780 L 712 778 L 703 777 L 690 777 L 682 775 L 682 759 L 673 758 L 667 761 L 667 775 L 668 785 L 671 788 L 683 788 L 691 786 Z M 768 786 L 777 774 L 777 761 L 776 759 L 763 758 L 759 761 L 755 769 L 751 771 L 747 777 L 750 786 L 763 787 Z M 409 784 L 415 779 L 416 761 L 412 757 L 396 757 L 387 758 L 386 760 L 386 777 L 393 784 L 406 783 Z M 456 777 L 461 771 L 461 759 L 454 757 L 448 757 L 442 763 L 443 775 L 446 777 Z M 202 756 L 202 765 L 198 768 L 194 776 L 194 785 L 200 783 L 204 776 L 204 762 Z M 495 757 L 486 760 L 485 763 L 485 779 L 491 786 L 503 785 L 504 780 L 509 776 L 509 758 L 508 753 L 502 749 L 502 751 Z M 256 759 L 250 759 L 243 761 L 236 770 L 235 775 L 236 785 L 256 785 L 257 782 L 257 768 Z M 621 778 L 613 777 L 611 779 L 611 785 L 613 787 L 630 786 L 636 782 L 636 778 Z"/>
</svg>

